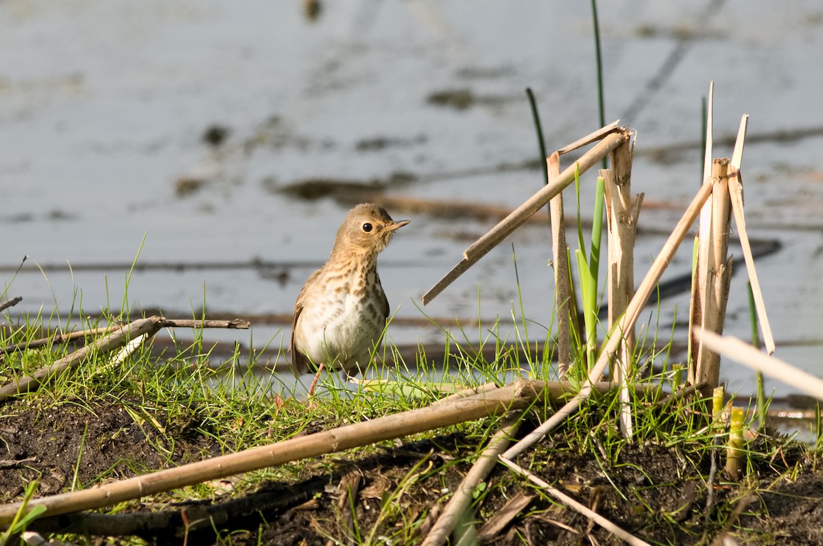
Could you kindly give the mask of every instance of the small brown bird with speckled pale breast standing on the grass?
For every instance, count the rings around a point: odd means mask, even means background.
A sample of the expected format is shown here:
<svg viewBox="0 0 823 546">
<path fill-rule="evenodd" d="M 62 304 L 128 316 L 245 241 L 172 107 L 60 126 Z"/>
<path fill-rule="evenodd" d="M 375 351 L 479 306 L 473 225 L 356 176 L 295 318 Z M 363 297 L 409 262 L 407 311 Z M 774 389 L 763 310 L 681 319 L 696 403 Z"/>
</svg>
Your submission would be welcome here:
<svg viewBox="0 0 823 546">
<path fill-rule="evenodd" d="M 328 261 L 300 290 L 291 321 L 291 368 L 300 375 L 310 363 L 319 365 L 309 394 L 323 366 L 348 374 L 369 362 L 388 318 L 377 255 L 408 223 L 395 222 L 372 203 L 354 207 L 337 229 Z"/>
</svg>

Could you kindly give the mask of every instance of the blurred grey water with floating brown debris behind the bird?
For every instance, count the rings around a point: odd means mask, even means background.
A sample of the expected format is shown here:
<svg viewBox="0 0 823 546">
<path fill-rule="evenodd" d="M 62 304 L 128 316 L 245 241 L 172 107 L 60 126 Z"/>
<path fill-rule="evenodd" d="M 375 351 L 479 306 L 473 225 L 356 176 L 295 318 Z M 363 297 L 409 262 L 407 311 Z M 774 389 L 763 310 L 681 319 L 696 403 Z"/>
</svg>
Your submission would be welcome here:
<svg viewBox="0 0 823 546">
<path fill-rule="evenodd" d="M 607 123 L 638 132 L 635 278 L 700 184 L 701 101 L 714 81 L 714 156 L 731 155 L 750 114 L 746 220 L 751 237 L 781 243 L 757 261 L 777 355 L 823 374 L 823 6 L 599 10 Z M 3 299 L 24 298 L 9 316 L 95 316 L 126 301 L 133 315 L 191 317 L 205 304 L 207 317 L 253 321 L 251 335 L 207 339 L 277 348 L 346 211 L 375 201 L 412 220 L 380 259 L 395 343 L 442 350 L 426 315 L 447 329 L 458 320 L 472 341 L 499 318 L 514 342 L 518 286 L 542 342 L 545 215 L 419 303 L 544 183 L 527 87 L 548 150 L 599 127 L 588 2 L 0 0 L 0 279 Z M 590 219 L 593 175 L 582 187 Z M 664 280 L 689 271 L 686 247 Z M 644 320 L 668 339 L 687 310 L 681 294 Z M 726 332 L 750 338 L 742 268 Z M 754 390 L 734 363 L 723 379 Z"/>
</svg>

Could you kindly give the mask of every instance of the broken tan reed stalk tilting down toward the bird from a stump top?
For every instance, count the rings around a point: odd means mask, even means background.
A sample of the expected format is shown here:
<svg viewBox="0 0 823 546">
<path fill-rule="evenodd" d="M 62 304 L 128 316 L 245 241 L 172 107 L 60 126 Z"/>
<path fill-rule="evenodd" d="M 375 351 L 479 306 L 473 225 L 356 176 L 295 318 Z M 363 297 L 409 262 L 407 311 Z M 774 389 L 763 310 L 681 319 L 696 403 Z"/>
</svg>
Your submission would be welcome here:
<svg viewBox="0 0 823 546">
<path fill-rule="evenodd" d="M 459 261 L 458 264 L 453 267 L 452 271 L 449 271 L 436 285 L 423 294 L 421 298 L 423 305 L 426 305 L 437 297 L 437 295 L 447 286 L 451 285 L 455 279 L 463 275 L 463 273 L 477 263 L 481 257 L 486 256 L 486 253 L 491 251 L 492 248 L 495 248 L 504 238 L 508 237 L 509 234 L 528 220 L 530 216 L 542 209 L 543 206 L 546 206 L 546 203 L 551 201 L 552 197 L 555 197 L 563 191 L 563 188 L 574 181 L 575 172 L 584 173 L 588 169 L 591 169 L 594 164 L 602 160 L 611 150 L 614 150 L 616 146 L 624 142 L 628 138 L 627 133 L 628 131 L 624 129 L 621 130 L 621 132 L 610 132 L 607 134 L 607 136 L 593 146 L 591 150 L 588 150 L 584 155 L 580 156 L 579 160 L 575 161 L 574 164 L 570 165 L 565 171 L 560 173 L 559 176 L 542 187 L 528 199 L 528 201 L 524 202 L 523 205 L 518 206 L 517 209 L 512 211 L 511 214 L 501 220 L 499 224 L 495 225 L 495 227 L 490 229 L 485 235 L 477 239 L 475 243 L 463 252 L 463 260 Z"/>
</svg>

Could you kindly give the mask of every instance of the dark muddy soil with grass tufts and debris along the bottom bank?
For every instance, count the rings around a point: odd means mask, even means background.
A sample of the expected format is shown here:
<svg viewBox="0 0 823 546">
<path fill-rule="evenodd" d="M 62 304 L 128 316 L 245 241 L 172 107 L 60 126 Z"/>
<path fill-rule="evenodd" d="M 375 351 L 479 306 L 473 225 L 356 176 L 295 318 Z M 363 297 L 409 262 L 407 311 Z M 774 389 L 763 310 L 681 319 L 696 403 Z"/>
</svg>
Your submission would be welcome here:
<svg viewBox="0 0 823 546">
<path fill-rule="evenodd" d="M 72 481 L 88 487 L 100 477 L 131 477 L 218 454 L 216 442 L 193 432 L 193 422 L 165 423 L 160 410 L 152 414 L 153 423 L 116 404 L 38 410 L 16 401 L 2 410 L 2 502 L 20 500 L 32 479 L 40 480 L 38 495 L 44 496 L 68 490 Z M 174 433 L 173 446 L 158 426 Z M 773 460 L 756 462 L 744 484 L 718 479 L 707 517 L 709 456 L 645 442 L 624 448 L 607 464 L 598 454 L 575 451 L 560 436 L 547 442 L 520 464 L 653 544 L 711 544 L 727 532 L 741 544 L 823 544 L 823 473 L 813 469 L 806 450 L 792 444 Z M 157 504 L 150 511 L 135 502 L 125 515 L 55 517 L 35 523 L 35 529 L 72 527 L 91 544 L 125 539 L 105 537 L 112 534 L 184 544 L 185 517 L 188 544 L 229 544 L 217 541 L 213 527 L 224 538 L 231 533 L 230 544 L 347 544 L 353 535 L 373 544 L 415 544 L 469 469 L 455 461 L 475 452 L 477 441 L 458 433 L 398 442 L 365 458 L 342 454 L 331 463 L 318 462 L 296 483 L 267 482 L 214 502 L 155 499 L 165 502 L 159 513 Z M 535 458 L 537 452 L 546 456 Z M 787 469 L 796 470 L 795 479 L 786 477 Z M 353 498 L 349 491 L 356 492 Z M 523 500 L 522 494 L 529 497 Z M 505 520 L 503 508 L 517 500 L 523 500 L 521 508 Z M 484 544 L 621 544 L 502 466 L 478 492 L 475 506 Z M 193 524 L 203 517 L 207 525 Z"/>
</svg>

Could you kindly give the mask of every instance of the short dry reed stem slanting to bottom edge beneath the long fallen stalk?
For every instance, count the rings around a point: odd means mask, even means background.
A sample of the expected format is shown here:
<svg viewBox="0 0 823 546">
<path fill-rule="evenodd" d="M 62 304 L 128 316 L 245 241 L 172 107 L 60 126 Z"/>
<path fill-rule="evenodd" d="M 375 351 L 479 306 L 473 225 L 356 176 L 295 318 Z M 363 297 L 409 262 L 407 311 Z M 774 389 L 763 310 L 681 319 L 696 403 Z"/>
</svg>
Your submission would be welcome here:
<svg viewBox="0 0 823 546">
<path fill-rule="evenodd" d="M 486 448 L 477 457 L 472 469 L 449 499 L 442 514 L 431 528 L 421 546 L 441 546 L 446 544 L 449 535 L 463 521 L 466 511 L 472 506 L 473 493 L 477 486 L 488 477 L 497 465 L 497 456 L 509 447 L 509 442 L 520 426 L 520 416 L 507 419 L 503 426 L 491 437 Z"/>
</svg>

